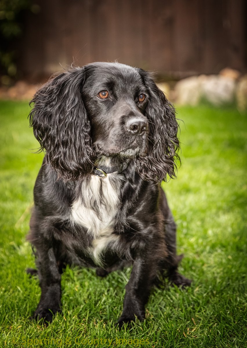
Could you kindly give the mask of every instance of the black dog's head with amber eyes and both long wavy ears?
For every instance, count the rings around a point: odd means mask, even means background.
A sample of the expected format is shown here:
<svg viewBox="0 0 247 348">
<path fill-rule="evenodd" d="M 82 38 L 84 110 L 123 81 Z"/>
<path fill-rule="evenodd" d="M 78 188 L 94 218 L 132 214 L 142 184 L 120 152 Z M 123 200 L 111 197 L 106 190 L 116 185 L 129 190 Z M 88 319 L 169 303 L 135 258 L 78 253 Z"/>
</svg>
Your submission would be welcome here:
<svg viewBox="0 0 247 348">
<path fill-rule="evenodd" d="M 34 135 L 64 179 L 89 174 L 101 156 L 132 158 L 144 180 L 174 176 L 175 111 L 148 72 L 92 63 L 49 80 L 31 102 Z"/>
</svg>

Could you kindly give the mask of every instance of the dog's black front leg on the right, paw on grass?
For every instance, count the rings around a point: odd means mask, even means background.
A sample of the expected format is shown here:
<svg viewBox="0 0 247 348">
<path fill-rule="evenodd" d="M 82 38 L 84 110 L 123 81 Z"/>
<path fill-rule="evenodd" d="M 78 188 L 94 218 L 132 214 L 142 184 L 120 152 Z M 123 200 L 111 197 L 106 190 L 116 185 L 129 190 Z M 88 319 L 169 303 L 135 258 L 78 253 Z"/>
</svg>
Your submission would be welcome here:
<svg viewBox="0 0 247 348">
<path fill-rule="evenodd" d="M 145 304 L 148 301 L 155 274 L 153 266 L 152 263 L 143 259 L 134 261 L 129 282 L 125 287 L 123 311 L 118 319 L 119 328 L 124 323 L 135 321 L 135 317 L 141 321 L 145 318 Z"/>
</svg>

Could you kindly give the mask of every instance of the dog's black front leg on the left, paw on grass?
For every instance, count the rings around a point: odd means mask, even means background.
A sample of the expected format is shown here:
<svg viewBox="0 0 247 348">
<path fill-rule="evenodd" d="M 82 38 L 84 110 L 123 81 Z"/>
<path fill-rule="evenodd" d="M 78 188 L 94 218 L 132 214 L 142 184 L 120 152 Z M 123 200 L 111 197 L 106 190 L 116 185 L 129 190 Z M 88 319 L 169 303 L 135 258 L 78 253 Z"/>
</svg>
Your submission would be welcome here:
<svg viewBox="0 0 247 348">
<path fill-rule="evenodd" d="M 45 243 L 44 243 L 45 244 Z M 53 247 L 44 246 L 37 250 L 36 263 L 41 287 L 41 297 L 34 319 L 43 318 L 51 322 L 56 312 L 61 312 L 61 275 L 59 273 Z"/>
</svg>

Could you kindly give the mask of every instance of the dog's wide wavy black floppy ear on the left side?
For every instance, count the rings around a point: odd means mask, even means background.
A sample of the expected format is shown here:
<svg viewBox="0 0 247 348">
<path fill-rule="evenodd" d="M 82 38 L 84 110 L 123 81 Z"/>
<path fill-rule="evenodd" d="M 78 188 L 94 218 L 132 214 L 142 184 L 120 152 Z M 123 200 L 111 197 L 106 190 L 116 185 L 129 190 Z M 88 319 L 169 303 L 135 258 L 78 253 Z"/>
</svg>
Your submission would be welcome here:
<svg viewBox="0 0 247 348">
<path fill-rule="evenodd" d="M 88 174 L 93 166 L 90 123 L 81 90 L 83 68 L 74 68 L 49 80 L 31 103 L 30 126 L 46 150 L 47 160 L 65 180 Z"/>
</svg>

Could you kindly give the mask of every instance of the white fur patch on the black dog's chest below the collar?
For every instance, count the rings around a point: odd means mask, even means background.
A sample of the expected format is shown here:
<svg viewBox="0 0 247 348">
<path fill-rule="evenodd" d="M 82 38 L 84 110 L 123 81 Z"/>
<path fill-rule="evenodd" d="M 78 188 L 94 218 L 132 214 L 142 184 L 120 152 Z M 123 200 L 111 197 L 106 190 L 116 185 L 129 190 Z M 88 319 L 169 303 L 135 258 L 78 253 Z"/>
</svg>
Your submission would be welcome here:
<svg viewBox="0 0 247 348">
<path fill-rule="evenodd" d="M 102 252 L 119 239 L 113 227 L 120 206 L 121 181 L 122 176 L 117 173 L 104 179 L 91 175 L 82 182 L 81 194 L 71 207 L 71 222 L 86 228 L 87 234 L 93 237 L 88 252 L 99 265 Z"/>
</svg>

